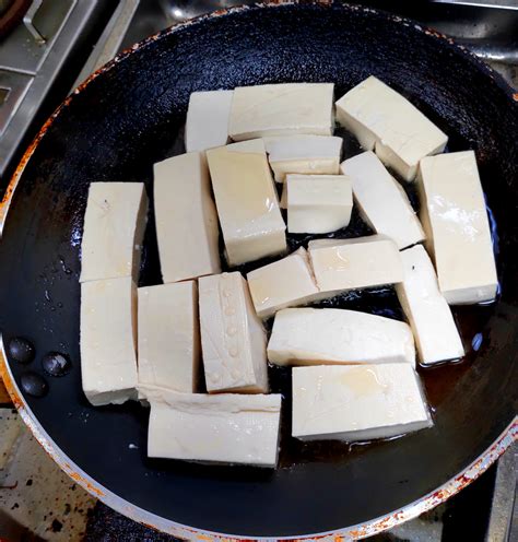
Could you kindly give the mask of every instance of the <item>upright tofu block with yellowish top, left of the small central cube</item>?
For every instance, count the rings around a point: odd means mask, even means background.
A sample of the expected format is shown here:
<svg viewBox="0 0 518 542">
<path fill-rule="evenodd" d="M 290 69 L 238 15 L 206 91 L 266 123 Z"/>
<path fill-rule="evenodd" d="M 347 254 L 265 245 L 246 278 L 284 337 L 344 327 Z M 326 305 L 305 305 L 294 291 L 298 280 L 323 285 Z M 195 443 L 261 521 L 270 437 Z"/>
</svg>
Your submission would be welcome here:
<svg viewBox="0 0 518 542">
<path fill-rule="evenodd" d="M 207 157 L 228 264 L 285 252 L 286 226 L 262 140 L 212 149 Z"/>
</svg>

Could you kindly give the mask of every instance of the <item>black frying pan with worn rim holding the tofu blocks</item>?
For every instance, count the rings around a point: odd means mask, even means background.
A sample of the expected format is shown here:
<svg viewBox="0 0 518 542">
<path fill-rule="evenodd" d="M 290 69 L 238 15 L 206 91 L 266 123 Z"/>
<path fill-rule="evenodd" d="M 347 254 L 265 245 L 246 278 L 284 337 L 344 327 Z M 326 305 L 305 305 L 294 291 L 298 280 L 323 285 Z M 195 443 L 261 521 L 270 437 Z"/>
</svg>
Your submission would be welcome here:
<svg viewBox="0 0 518 542">
<path fill-rule="evenodd" d="M 148 411 L 137 403 L 94 409 L 81 391 L 78 278 L 90 182 L 143 180 L 152 196 L 152 164 L 183 152 L 192 91 L 332 81 L 341 96 L 369 74 L 448 133 L 449 151 L 476 151 L 496 224 L 499 301 L 456 310 L 466 360 L 422 372 L 434 427 L 365 446 L 302 445 L 290 437 L 290 370 L 271 369 L 273 391 L 286 396 L 276 471 L 148 459 Z M 68 376 L 48 377 L 47 397 L 35 399 L 17 391 L 27 367 L 7 356 L 3 373 L 25 420 L 63 469 L 109 505 L 185 537 L 193 534 L 177 523 L 242 537 L 362 535 L 458 491 L 517 432 L 517 98 L 443 36 L 352 7 L 232 10 L 121 55 L 54 116 L 13 181 L 0 247 L 3 341 L 31 339 L 37 355 L 30 368 L 38 373 L 48 351 L 68 353 L 73 364 Z M 356 217 L 344 235 L 366 232 Z M 154 235 L 151 220 L 141 284 L 160 282 Z M 303 240 L 290 238 L 292 247 Z M 401 318 L 390 288 L 338 304 Z M 366 525 L 345 528 L 357 523 Z"/>
</svg>

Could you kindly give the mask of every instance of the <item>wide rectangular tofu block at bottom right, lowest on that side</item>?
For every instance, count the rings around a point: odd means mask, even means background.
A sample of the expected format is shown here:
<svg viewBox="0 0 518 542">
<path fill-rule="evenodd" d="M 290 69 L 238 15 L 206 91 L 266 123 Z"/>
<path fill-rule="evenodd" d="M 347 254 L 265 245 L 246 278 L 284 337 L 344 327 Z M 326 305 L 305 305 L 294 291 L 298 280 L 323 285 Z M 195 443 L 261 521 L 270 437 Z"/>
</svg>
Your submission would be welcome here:
<svg viewBox="0 0 518 542">
<path fill-rule="evenodd" d="M 297 367 L 292 386 L 301 440 L 372 440 L 433 425 L 411 365 Z"/>
</svg>

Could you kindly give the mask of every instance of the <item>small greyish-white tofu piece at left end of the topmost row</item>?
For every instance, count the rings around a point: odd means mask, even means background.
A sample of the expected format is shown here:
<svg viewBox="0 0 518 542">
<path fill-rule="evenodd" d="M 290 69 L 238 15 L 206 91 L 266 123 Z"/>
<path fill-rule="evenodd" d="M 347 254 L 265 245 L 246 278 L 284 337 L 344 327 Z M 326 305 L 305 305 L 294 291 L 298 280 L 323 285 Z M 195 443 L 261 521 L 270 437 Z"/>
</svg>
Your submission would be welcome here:
<svg viewBox="0 0 518 542">
<path fill-rule="evenodd" d="M 193 92 L 186 120 L 186 152 L 228 143 L 228 117 L 234 91 Z"/>
</svg>

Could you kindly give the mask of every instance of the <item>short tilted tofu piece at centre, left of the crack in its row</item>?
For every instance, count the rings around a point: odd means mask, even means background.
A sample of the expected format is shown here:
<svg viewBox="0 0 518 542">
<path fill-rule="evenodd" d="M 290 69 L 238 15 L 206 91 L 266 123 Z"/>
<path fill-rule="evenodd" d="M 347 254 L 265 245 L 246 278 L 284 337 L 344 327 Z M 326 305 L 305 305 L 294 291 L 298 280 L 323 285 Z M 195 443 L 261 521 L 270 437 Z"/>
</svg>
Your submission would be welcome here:
<svg viewBox="0 0 518 542">
<path fill-rule="evenodd" d="M 285 307 L 295 307 L 321 298 L 304 248 L 282 260 L 250 271 L 247 280 L 256 313 L 260 318 L 269 318 Z"/>
</svg>

